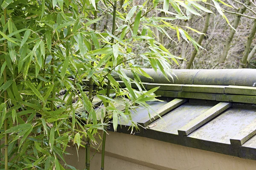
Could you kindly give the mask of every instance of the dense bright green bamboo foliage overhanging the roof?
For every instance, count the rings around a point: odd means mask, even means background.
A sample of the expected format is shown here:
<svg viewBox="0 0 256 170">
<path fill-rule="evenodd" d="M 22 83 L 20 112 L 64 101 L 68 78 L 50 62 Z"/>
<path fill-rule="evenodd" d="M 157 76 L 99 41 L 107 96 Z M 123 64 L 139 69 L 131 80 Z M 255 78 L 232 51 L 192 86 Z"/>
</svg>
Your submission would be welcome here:
<svg viewBox="0 0 256 170">
<path fill-rule="evenodd" d="M 157 88 L 145 91 L 139 75 L 151 77 L 137 62 L 150 62 L 168 78 L 172 63 L 181 59 L 156 41 L 152 30 L 173 41 L 166 32 L 170 29 L 178 39 L 201 48 L 187 31 L 171 22 L 189 19 L 186 10 L 198 16 L 210 12 L 200 3 L 124 1 L 117 6 L 115 0 L 0 0 L 0 139 L 8 146 L 5 155 L 1 154 L 0 169 L 76 169 L 64 157 L 66 148 L 76 145 L 86 149 L 85 168 L 89 170 L 90 144 L 97 142 L 100 130 L 106 139 L 109 120 L 115 130 L 121 118 L 131 123 L 132 131 L 138 130 L 131 111 L 148 108 L 148 101 L 157 100 Z M 156 9 L 168 15 L 151 15 Z M 100 28 L 109 15 L 112 28 Z M 126 88 L 120 88 L 116 78 Z M 132 88 L 132 83 L 137 87 Z M 97 99 L 103 102 L 98 108 Z"/>
</svg>

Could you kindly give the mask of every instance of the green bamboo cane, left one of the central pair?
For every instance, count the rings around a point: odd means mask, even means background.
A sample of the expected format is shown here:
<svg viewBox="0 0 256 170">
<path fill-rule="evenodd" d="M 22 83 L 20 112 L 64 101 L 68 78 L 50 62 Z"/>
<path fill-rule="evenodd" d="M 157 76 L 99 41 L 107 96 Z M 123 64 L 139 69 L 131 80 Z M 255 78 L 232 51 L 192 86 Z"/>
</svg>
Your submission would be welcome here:
<svg viewBox="0 0 256 170">
<path fill-rule="evenodd" d="M 96 9 L 94 11 L 94 19 L 97 18 L 97 8 L 98 8 L 98 3 L 95 4 Z M 96 31 L 96 26 L 97 23 L 93 23 L 93 30 Z M 95 50 L 95 45 L 92 45 L 92 51 Z M 94 65 L 94 62 L 91 62 L 91 65 Z M 93 102 L 93 77 L 90 77 L 89 80 L 89 100 L 90 102 Z M 89 117 L 89 112 L 87 112 L 87 118 Z M 87 136 L 86 138 L 86 169 L 90 170 L 90 138 Z"/>
</svg>

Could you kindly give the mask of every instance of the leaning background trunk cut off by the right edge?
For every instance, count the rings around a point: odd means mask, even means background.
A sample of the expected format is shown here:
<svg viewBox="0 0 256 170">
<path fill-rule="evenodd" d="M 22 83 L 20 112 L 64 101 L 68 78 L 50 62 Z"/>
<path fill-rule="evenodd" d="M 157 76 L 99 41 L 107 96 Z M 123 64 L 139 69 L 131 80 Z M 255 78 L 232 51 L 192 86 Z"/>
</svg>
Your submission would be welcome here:
<svg viewBox="0 0 256 170">
<path fill-rule="evenodd" d="M 248 36 L 248 39 L 247 39 L 247 42 L 246 42 L 246 45 L 245 45 L 245 49 L 244 49 L 244 55 L 243 55 L 243 58 L 242 58 L 242 61 L 240 63 L 239 68 L 246 68 L 247 58 L 248 58 L 248 55 L 250 53 L 250 46 L 253 42 L 253 38 L 255 36 L 255 33 L 256 33 L 256 20 L 254 20 L 252 31 L 250 32 L 250 34 Z"/>
</svg>

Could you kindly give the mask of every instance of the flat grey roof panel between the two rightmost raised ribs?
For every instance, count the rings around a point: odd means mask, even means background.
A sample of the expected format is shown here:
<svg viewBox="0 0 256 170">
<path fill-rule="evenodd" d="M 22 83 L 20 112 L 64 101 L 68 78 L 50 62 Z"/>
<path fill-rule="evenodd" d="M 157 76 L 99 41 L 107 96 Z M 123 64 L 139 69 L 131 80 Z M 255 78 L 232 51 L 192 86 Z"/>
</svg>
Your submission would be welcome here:
<svg viewBox="0 0 256 170">
<path fill-rule="evenodd" d="M 195 130 L 188 137 L 230 144 L 230 139 L 256 119 L 254 109 L 228 108 L 224 113 Z"/>
</svg>

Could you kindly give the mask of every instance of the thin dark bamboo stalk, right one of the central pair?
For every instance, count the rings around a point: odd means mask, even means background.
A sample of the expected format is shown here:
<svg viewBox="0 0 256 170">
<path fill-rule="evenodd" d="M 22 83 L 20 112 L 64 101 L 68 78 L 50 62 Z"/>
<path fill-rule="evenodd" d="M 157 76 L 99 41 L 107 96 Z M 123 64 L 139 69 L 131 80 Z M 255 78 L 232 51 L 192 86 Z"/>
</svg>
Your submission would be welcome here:
<svg viewBox="0 0 256 170">
<path fill-rule="evenodd" d="M 116 25 L 116 0 L 114 1 L 114 6 L 113 6 L 113 22 L 112 22 L 112 34 L 115 34 L 115 25 Z M 114 43 L 114 38 L 111 38 L 111 43 Z M 109 97 L 110 95 L 110 80 L 108 79 L 108 87 L 107 87 L 107 96 Z M 108 107 L 109 103 L 106 104 L 106 108 Z M 106 114 L 107 115 L 107 109 L 106 109 Z M 107 121 L 104 118 L 104 122 Z M 102 141 L 102 162 L 101 162 L 101 170 L 104 170 L 104 162 L 105 162 L 105 143 L 106 143 L 106 128 L 103 131 L 103 141 Z"/>
</svg>

